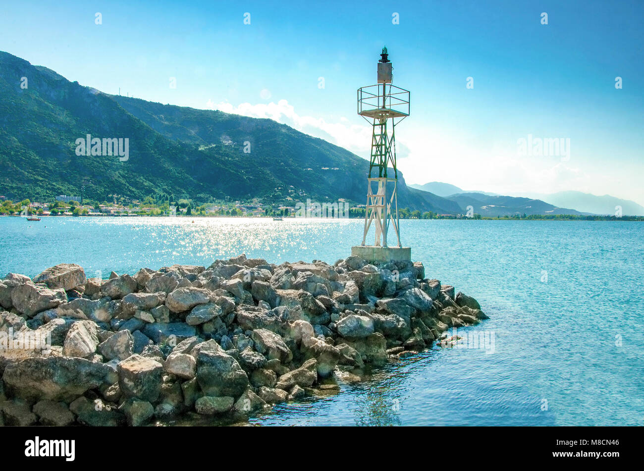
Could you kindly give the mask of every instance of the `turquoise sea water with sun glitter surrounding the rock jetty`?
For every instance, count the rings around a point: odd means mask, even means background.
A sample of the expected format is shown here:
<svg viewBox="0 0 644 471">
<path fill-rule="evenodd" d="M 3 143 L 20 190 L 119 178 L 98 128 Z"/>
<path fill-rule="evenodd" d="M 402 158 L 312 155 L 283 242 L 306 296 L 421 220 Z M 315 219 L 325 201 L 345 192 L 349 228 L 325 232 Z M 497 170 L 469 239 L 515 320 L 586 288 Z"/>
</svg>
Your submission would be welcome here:
<svg viewBox="0 0 644 471">
<path fill-rule="evenodd" d="M 107 277 L 242 252 L 334 263 L 361 234 L 349 219 L 0 217 L 0 273 L 67 262 Z M 401 221 L 401 234 L 426 276 L 479 300 L 491 319 L 464 331 L 494 335 L 493 351 L 435 348 L 252 421 L 643 425 L 643 223 Z"/>
</svg>

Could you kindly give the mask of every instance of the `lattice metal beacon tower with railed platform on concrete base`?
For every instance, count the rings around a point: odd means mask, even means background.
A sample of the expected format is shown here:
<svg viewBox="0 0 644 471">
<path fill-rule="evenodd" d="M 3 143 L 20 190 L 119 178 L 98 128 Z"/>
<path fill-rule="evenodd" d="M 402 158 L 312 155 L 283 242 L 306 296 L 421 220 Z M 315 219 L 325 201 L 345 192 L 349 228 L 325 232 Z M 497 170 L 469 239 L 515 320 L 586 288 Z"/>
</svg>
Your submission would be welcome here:
<svg viewBox="0 0 644 471">
<path fill-rule="evenodd" d="M 387 48 L 383 48 L 378 61 L 378 82 L 358 89 L 358 115 L 374 127 L 371 140 L 371 158 L 367 178 L 365 231 L 362 245 L 366 243 L 369 229 L 375 227 L 376 247 L 387 247 L 387 232 L 393 226 L 395 247 L 402 247 L 396 185 L 395 125 L 409 116 L 410 93 L 392 85 L 392 62 Z M 391 121 L 390 121 L 391 120 Z"/>
</svg>

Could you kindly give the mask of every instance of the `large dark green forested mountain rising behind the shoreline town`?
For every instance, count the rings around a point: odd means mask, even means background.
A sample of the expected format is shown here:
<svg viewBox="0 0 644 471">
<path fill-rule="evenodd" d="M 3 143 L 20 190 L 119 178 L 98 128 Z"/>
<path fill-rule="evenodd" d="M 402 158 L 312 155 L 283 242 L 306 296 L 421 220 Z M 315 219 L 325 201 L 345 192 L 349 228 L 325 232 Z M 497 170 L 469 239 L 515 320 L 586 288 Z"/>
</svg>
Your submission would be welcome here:
<svg viewBox="0 0 644 471">
<path fill-rule="evenodd" d="M 128 160 L 78 156 L 76 140 L 87 134 L 127 138 Z M 84 187 L 86 198 L 98 200 L 163 193 L 200 202 L 364 204 L 368 167 L 346 149 L 273 120 L 107 95 L 0 51 L 0 194 L 9 199 L 75 195 Z M 454 201 L 409 189 L 401 172 L 398 207 L 460 212 Z"/>
</svg>

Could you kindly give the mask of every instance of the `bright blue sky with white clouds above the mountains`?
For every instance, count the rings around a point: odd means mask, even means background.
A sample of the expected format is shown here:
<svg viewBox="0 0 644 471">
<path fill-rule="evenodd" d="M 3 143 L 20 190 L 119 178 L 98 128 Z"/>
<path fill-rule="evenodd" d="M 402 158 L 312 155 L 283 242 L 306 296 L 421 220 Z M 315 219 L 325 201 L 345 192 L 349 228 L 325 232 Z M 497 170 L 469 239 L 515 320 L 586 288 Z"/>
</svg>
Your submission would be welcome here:
<svg viewBox="0 0 644 471">
<path fill-rule="evenodd" d="M 274 118 L 363 157 L 370 127 L 355 114 L 355 89 L 375 82 L 386 44 L 394 84 L 412 92 L 412 116 L 396 132 L 408 183 L 516 196 L 580 190 L 644 205 L 641 1 L 33 1 L 2 10 L 0 50 L 69 80 Z M 518 143 L 529 134 L 569 139 L 569 154 L 524 155 Z"/>
</svg>

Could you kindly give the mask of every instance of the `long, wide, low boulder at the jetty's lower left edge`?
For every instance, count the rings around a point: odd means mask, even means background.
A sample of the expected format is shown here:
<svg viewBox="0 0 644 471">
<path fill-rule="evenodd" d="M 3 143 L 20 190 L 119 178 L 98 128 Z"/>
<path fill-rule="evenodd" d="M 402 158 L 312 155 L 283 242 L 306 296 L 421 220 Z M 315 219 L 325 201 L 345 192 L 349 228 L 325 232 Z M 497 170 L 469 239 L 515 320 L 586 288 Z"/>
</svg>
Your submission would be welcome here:
<svg viewBox="0 0 644 471">
<path fill-rule="evenodd" d="M 10 364 L 3 375 L 14 396 L 70 402 L 90 389 L 115 381 L 106 364 L 84 358 L 48 356 Z"/>
</svg>

